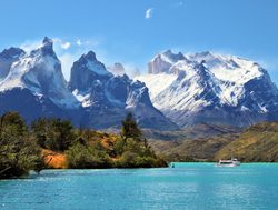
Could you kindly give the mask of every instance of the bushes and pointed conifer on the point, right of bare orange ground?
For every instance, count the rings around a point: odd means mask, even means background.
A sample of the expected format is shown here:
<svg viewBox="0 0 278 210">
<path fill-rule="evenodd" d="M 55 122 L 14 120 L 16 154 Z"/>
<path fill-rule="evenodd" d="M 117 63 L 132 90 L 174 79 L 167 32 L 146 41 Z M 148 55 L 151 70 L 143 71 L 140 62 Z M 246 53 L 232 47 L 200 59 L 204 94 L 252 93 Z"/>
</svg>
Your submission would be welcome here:
<svg viewBox="0 0 278 210">
<path fill-rule="evenodd" d="M 79 130 L 78 139 L 66 151 L 70 168 L 151 168 L 166 167 L 167 163 L 157 157 L 142 138 L 131 113 L 122 121 L 120 136 L 109 141 L 111 136 L 97 138 L 99 133 L 91 130 Z M 108 138 L 110 147 L 101 141 Z"/>
</svg>

